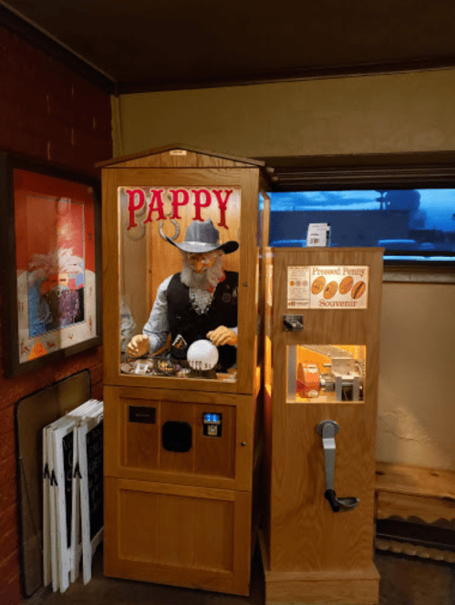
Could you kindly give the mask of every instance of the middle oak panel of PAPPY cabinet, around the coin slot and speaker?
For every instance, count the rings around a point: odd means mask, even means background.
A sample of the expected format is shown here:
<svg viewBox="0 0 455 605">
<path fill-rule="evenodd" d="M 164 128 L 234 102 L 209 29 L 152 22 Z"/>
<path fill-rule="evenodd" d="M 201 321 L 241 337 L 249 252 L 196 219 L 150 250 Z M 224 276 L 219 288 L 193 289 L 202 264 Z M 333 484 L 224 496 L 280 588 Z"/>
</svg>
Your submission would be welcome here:
<svg viewBox="0 0 455 605">
<path fill-rule="evenodd" d="M 225 395 L 201 393 L 195 401 L 191 393 L 105 387 L 104 402 L 106 476 L 252 490 L 253 396 L 234 395 L 226 401 Z M 154 408 L 155 424 L 129 422 L 130 406 Z M 203 436 L 204 413 L 222 415 L 221 437 Z M 191 426 L 190 451 L 170 452 L 162 446 L 162 426 L 170 420 Z"/>
</svg>

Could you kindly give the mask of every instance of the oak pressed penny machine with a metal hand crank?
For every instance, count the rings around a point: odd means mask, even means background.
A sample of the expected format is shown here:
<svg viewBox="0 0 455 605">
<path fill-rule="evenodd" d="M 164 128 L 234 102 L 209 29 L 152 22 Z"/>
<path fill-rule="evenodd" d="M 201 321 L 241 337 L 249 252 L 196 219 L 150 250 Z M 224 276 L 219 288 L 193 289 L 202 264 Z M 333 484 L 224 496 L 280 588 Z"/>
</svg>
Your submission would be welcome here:
<svg viewBox="0 0 455 605">
<path fill-rule="evenodd" d="M 266 602 L 377 603 L 382 249 L 266 252 Z"/>
</svg>

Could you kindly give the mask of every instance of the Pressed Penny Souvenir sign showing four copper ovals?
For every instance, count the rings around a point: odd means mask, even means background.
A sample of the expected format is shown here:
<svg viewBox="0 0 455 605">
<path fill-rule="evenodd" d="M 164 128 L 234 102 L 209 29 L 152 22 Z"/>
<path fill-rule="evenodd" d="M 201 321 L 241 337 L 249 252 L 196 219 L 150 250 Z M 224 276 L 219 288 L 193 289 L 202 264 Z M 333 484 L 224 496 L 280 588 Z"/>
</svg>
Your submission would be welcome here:
<svg viewBox="0 0 455 605">
<path fill-rule="evenodd" d="M 288 267 L 291 309 L 367 309 L 367 266 Z"/>
</svg>

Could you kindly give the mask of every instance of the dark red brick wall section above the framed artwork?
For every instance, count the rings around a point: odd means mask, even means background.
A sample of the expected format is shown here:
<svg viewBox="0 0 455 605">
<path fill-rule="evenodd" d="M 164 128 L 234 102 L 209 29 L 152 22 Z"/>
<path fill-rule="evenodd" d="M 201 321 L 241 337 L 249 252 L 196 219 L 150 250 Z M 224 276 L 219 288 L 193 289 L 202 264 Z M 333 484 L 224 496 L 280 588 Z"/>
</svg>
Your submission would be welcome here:
<svg viewBox="0 0 455 605">
<path fill-rule="evenodd" d="M 0 28 L 0 148 L 94 172 L 112 157 L 109 96 Z"/>
</svg>

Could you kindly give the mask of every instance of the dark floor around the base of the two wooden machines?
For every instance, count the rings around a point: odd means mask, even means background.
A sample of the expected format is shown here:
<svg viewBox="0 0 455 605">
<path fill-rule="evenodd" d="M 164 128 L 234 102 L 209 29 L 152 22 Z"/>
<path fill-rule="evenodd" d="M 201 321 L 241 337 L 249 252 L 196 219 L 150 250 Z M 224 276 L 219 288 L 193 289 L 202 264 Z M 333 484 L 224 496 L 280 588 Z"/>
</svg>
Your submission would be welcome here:
<svg viewBox="0 0 455 605">
<path fill-rule="evenodd" d="M 381 576 L 379 605 L 455 605 L 455 566 L 380 551 L 375 562 Z M 83 586 L 79 578 L 65 594 L 38 590 L 24 601 L 24 605 L 42 604 L 264 605 L 264 575 L 260 560 L 254 559 L 250 597 L 105 578 L 99 549 L 93 560 L 93 577 L 87 586 Z"/>
</svg>

